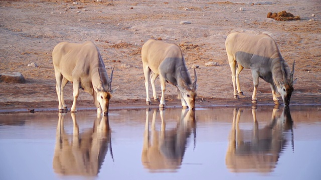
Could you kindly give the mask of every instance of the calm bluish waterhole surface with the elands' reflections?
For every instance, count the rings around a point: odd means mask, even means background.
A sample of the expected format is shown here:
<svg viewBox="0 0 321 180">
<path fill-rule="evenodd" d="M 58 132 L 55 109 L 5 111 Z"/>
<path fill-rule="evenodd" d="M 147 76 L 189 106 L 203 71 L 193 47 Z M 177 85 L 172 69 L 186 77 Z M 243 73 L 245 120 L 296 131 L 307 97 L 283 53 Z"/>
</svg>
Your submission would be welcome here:
<svg viewBox="0 0 321 180">
<path fill-rule="evenodd" d="M 320 179 L 320 147 L 320 106 L 0 114 L 0 179 Z"/>
</svg>

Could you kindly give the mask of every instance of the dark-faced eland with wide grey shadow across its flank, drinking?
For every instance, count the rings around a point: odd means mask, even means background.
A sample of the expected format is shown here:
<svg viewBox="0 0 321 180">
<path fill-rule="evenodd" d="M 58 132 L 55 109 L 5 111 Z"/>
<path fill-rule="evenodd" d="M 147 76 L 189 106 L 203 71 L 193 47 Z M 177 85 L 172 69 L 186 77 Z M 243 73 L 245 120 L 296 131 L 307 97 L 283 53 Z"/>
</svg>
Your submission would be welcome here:
<svg viewBox="0 0 321 180">
<path fill-rule="evenodd" d="M 248 68 L 252 71 L 254 84 L 252 103 L 257 103 L 256 89 L 261 77 L 270 84 L 275 104 L 280 104 L 278 96 L 282 97 L 284 105 L 290 104 L 293 84 L 296 81 L 293 80 L 294 61 L 290 71 L 271 36 L 233 32 L 227 36 L 225 46 L 232 71 L 234 98 L 238 99 L 239 94 L 243 95 L 239 73 L 243 68 Z"/>
</svg>

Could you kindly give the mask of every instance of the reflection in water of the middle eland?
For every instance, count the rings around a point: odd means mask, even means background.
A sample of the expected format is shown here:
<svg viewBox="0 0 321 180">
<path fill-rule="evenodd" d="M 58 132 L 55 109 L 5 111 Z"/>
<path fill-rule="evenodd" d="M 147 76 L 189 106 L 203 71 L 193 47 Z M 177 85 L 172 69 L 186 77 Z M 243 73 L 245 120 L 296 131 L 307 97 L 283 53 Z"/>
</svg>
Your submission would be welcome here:
<svg viewBox="0 0 321 180">
<path fill-rule="evenodd" d="M 166 129 L 164 112 L 159 110 L 162 119 L 161 130 L 155 129 L 157 109 L 154 109 L 151 122 L 151 133 L 149 134 L 149 109 L 146 109 L 146 123 L 144 131 L 141 162 L 144 168 L 151 172 L 159 170 L 175 171 L 183 160 L 187 147 L 187 138 L 195 132 L 195 111 L 182 109 L 181 116 L 177 121 L 176 128 Z M 195 137 L 194 137 L 195 139 Z"/>
</svg>

